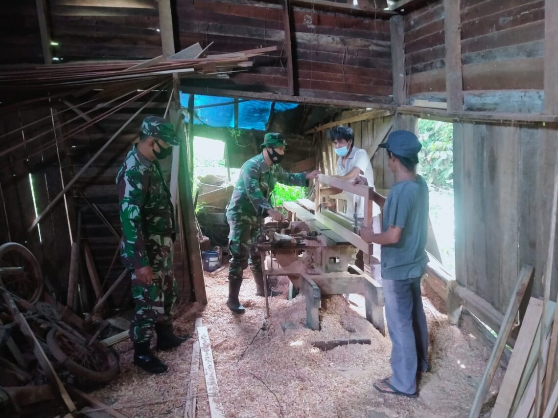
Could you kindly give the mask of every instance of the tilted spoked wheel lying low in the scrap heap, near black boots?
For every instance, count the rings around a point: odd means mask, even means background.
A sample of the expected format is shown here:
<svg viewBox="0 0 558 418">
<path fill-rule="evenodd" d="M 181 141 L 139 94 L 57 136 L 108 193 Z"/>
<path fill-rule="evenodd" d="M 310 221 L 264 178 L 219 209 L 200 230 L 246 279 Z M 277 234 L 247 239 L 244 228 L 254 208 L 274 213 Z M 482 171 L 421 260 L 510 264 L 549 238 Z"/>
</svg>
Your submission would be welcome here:
<svg viewBox="0 0 558 418">
<path fill-rule="evenodd" d="M 46 336 L 49 350 L 60 363 L 76 376 L 94 382 L 109 382 L 118 375 L 116 354 L 98 341 L 90 346 L 78 338 L 52 328 Z"/>
</svg>

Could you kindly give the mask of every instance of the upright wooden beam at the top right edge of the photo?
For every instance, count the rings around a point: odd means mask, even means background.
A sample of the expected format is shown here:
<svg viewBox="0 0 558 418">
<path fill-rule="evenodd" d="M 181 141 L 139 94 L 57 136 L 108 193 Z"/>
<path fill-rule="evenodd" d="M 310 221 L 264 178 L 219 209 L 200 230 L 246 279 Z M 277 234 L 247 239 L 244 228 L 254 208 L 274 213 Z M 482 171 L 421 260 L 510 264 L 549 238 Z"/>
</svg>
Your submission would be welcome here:
<svg viewBox="0 0 558 418">
<path fill-rule="evenodd" d="M 545 0 L 545 114 L 558 114 L 558 2 Z"/>
</svg>

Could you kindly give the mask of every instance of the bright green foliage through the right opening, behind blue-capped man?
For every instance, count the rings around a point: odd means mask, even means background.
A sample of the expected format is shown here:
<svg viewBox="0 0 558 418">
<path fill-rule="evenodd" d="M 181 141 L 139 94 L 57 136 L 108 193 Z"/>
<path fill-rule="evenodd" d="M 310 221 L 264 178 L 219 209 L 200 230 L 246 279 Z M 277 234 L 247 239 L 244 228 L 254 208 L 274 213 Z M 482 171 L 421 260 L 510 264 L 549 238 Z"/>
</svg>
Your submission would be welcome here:
<svg viewBox="0 0 558 418">
<path fill-rule="evenodd" d="M 419 119 L 419 173 L 434 188 L 453 189 L 453 125 Z"/>
</svg>

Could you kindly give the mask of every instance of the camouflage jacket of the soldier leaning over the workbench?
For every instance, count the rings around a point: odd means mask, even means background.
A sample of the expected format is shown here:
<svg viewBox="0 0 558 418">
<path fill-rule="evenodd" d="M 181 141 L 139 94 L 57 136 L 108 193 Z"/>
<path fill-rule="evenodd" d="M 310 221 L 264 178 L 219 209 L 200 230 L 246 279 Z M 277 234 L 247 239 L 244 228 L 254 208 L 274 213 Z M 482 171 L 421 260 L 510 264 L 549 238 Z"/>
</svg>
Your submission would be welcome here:
<svg viewBox="0 0 558 418">
<path fill-rule="evenodd" d="M 263 213 L 272 209 L 271 192 L 277 182 L 290 186 L 305 186 L 306 173 L 288 173 L 280 164 L 267 166 L 263 154 L 252 157 L 240 168 L 227 210 L 229 222 L 257 223 L 258 209 Z"/>
</svg>

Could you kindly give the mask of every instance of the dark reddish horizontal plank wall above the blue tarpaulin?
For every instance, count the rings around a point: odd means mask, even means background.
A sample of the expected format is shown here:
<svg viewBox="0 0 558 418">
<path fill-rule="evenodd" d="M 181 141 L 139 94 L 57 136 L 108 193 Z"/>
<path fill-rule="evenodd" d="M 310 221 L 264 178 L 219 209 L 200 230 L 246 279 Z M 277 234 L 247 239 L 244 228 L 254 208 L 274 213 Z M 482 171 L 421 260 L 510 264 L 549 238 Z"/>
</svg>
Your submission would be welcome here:
<svg viewBox="0 0 558 418">
<path fill-rule="evenodd" d="M 200 42 L 211 54 L 274 46 L 254 59 L 252 71 L 212 87 L 285 94 L 282 6 L 251 0 L 177 3 L 180 48 Z M 390 103 L 392 90 L 389 21 L 292 8 L 294 63 L 299 94 L 306 97 Z"/>
</svg>

